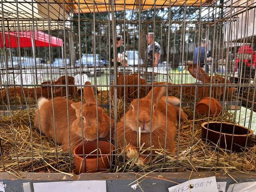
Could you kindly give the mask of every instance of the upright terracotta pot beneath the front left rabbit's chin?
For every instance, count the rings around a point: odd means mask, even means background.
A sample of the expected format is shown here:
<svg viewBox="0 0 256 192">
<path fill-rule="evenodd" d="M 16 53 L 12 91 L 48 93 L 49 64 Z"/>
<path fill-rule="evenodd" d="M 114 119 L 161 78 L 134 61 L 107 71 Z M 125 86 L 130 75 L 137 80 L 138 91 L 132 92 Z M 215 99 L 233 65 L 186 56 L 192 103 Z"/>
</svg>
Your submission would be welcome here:
<svg viewBox="0 0 256 192">
<path fill-rule="evenodd" d="M 100 150 L 98 150 L 99 156 L 97 158 L 97 141 L 84 142 L 85 163 L 83 163 L 82 143 L 74 149 L 73 154 L 76 174 L 84 173 L 84 165 L 85 172 L 89 173 L 106 171 L 110 168 L 110 146 L 112 152 L 114 150 L 113 145 L 107 141 L 99 141 L 98 146 Z M 97 159 L 99 167 L 97 167 Z M 99 170 L 97 170 L 97 168 L 99 168 Z"/>
</svg>

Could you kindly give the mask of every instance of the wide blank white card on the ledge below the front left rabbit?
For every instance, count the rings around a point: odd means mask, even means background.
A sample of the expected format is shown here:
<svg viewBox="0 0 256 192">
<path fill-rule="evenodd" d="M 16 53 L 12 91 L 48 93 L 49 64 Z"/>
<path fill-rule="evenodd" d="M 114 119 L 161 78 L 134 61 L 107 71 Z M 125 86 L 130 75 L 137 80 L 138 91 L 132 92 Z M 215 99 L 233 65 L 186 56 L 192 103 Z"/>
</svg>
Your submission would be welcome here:
<svg viewBox="0 0 256 192">
<path fill-rule="evenodd" d="M 107 192 L 106 181 L 34 183 L 34 192 Z"/>
</svg>

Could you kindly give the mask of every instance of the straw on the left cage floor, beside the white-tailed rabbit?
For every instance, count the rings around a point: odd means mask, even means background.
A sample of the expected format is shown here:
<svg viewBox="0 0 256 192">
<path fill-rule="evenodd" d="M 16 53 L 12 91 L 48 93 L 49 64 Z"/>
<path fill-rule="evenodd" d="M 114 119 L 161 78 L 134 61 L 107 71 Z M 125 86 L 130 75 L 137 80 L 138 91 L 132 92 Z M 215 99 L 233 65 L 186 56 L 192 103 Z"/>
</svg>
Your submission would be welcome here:
<svg viewBox="0 0 256 192">
<path fill-rule="evenodd" d="M 55 141 L 40 136 L 33 125 L 34 112 L 35 109 L 19 110 L 0 118 L 0 171 L 55 172 L 52 167 L 57 168 L 58 164 L 59 170 L 70 172 L 69 154 L 58 145 L 56 154 Z"/>
</svg>

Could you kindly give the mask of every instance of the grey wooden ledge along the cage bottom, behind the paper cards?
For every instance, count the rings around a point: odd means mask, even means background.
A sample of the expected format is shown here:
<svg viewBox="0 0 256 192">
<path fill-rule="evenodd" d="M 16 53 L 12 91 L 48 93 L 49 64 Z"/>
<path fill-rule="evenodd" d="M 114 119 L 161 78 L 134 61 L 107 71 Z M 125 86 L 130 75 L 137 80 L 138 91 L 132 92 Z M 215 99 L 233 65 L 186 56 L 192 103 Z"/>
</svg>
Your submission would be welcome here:
<svg viewBox="0 0 256 192">
<path fill-rule="evenodd" d="M 183 183 L 189 178 L 201 178 L 216 176 L 217 182 L 226 181 L 229 184 L 234 184 L 235 181 L 230 177 L 236 179 L 236 181 L 242 181 L 245 179 L 256 179 L 256 172 L 251 173 L 214 173 L 214 172 L 199 172 L 199 173 L 86 173 L 80 175 L 64 175 L 61 173 L 0 173 L 0 181 L 7 185 L 7 191 L 22 192 L 23 183 L 38 183 L 38 182 L 51 182 L 51 181 L 81 181 L 81 180 L 106 180 L 107 181 L 107 192 L 129 192 L 134 191 L 131 188 L 131 183 L 135 184 L 136 180 L 141 177 L 141 175 L 146 175 L 142 177 L 139 181 L 140 187 L 144 192 L 167 192 L 168 187 L 176 185 L 176 183 Z M 16 175 L 16 176 L 15 176 Z M 191 176 L 191 177 L 190 177 Z M 175 182 L 175 183 L 174 183 Z M 137 188 L 136 192 L 141 192 Z"/>
</svg>

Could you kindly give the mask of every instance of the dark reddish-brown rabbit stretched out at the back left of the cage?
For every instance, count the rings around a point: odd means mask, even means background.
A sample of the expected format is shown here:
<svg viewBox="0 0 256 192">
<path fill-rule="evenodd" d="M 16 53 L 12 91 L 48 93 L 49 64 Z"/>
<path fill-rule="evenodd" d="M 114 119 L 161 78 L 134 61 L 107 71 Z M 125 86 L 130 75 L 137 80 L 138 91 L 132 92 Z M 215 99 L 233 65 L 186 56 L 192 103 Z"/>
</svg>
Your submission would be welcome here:
<svg viewBox="0 0 256 192">
<path fill-rule="evenodd" d="M 68 78 L 68 85 L 73 85 L 74 84 L 74 77 L 72 76 L 67 76 Z M 65 84 L 65 76 L 61 76 L 60 78 L 58 78 L 55 82 L 54 85 L 64 85 Z M 49 84 L 51 83 L 50 81 L 47 82 L 43 82 L 42 84 Z M 76 92 L 76 87 L 68 87 L 68 93 L 70 95 L 74 95 Z M 27 87 L 23 87 L 24 90 L 24 94 L 26 98 L 35 98 L 35 91 L 37 94 L 37 98 L 39 97 L 45 97 L 45 98 L 51 98 L 52 94 L 51 94 L 51 87 L 49 86 L 42 86 L 42 87 L 36 87 L 36 88 L 27 88 Z M 3 99 L 7 98 L 7 92 L 6 89 L 2 89 L 1 92 Z M 8 88 L 8 93 L 9 93 L 9 97 L 10 98 L 15 98 L 17 95 L 21 96 L 23 95 L 22 89 L 20 86 L 16 86 L 16 87 L 9 87 Z M 53 96 L 54 97 L 58 97 L 58 96 L 66 96 L 66 87 L 65 86 L 53 86 Z"/>
</svg>

